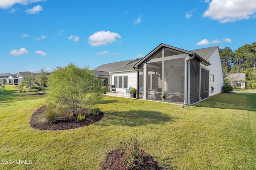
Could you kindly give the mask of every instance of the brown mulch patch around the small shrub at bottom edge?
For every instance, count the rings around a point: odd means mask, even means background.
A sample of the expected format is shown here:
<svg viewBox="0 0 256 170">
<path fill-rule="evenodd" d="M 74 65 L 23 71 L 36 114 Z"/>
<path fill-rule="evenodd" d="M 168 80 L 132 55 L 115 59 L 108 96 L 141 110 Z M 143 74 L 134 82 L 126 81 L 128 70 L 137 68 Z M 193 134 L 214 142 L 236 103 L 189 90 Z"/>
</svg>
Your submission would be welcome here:
<svg viewBox="0 0 256 170">
<path fill-rule="evenodd" d="M 145 150 L 142 150 L 140 157 L 142 158 L 142 163 L 137 166 L 124 166 L 122 158 L 124 158 L 124 153 L 120 150 L 116 150 L 108 155 L 108 159 L 102 166 L 104 170 L 160 170 L 158 162 L 156 162 L 152 156 L 150 156 Z"/>
</svg>

